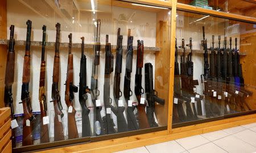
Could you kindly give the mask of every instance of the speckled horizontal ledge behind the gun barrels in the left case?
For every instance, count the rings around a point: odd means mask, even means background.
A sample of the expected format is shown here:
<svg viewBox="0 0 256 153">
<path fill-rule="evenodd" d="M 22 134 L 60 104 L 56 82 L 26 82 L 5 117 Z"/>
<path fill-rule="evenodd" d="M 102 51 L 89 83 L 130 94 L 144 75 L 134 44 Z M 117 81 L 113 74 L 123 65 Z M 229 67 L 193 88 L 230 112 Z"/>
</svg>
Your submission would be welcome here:
<svg viewBox="0 0 256 153">
<path fill-rule="evenodd" d="M 9 40 L 6 39 L 0 39 L 0 44 L 9 44 Z M 69 43 L 60 43 L 60 48 L 68 48 Z M 15 46 L 25 46 L 26 41 L 25 40 L 15 40 Z M 42 47 L 42 42 L 39 41 L 31 41 L 31 46 L 33 47 Z M 55 47 L 55 42 L 46 42 L 47 48 L 53 48 Z M 85 49 L 93 48 L 93 44 L 85 44 Z M 72 43 L 72 48 L 81 48 L 81 43 Z M 112 45 L 112 49 L 117 48 L 116 45 Z M 123 46 L 123 49 L 126 49 L 127 46 Z M 101 49 L 105 49 L 105 44 L 101 44 Z M 134 50 L 137 50 L 137 46 L 133 47 Z M 159 52 L 159 47 L 144 47 L 144 51 L 151 51 L 151 52 Z"/>
</svg>

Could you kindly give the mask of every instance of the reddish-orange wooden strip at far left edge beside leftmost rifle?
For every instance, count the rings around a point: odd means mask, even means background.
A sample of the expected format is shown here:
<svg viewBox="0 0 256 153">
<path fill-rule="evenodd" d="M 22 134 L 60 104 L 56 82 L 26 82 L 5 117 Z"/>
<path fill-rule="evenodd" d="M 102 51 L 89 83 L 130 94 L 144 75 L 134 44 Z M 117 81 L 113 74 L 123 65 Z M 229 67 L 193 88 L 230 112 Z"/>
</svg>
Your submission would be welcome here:
<svg viewBox="0 0 256 153">
<path fill-rule="evenodd" d="M 6 25 L 7 24 L 7 10 L 6 0 L 0 1 L 0 39 L 7 38 Z M 0 45 L 0 108 L 4 106 L 3 94 L 5 91 L 5 67 L 6 67 L 6 45 Z"/>
</svg>

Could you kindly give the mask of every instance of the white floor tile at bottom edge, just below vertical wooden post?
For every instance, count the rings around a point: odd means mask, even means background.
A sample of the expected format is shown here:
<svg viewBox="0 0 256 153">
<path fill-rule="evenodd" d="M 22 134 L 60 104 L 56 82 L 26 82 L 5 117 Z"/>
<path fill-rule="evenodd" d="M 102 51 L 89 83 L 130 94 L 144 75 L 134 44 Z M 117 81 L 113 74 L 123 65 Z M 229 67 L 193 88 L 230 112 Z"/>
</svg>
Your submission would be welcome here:
<svg viewBox="0 0 256 153">
<path fill-rule="evenodd" d="M 145 147 L 147 148 L 147 150 L 150 153 L 155 153 L 155 152 L 180 153 L 180 152 L 185 151 L 185 149 L 183 147 L 181 147 L 180 144 L 174 140 L 169 141 L 169 142 L 152 144 L 150 146 L 145 146 Z"/>
</svg>

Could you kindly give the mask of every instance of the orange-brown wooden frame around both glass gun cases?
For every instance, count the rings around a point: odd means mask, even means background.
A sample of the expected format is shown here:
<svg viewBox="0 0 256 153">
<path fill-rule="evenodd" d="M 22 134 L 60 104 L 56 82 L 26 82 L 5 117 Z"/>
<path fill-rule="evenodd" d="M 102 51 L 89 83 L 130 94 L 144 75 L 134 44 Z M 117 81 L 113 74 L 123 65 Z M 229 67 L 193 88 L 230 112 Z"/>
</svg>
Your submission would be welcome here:
<svg viewBox="0 0 256 153">
<path fill-rule="evenodd" d="M 115 1 L 115 0 L 112 0 Z M 120 150 L 126 150 L 135 147 L 141 147 L 145 145 L 166 142 L 168 140 L 174 140 L 184 137 L 189 137 L 192 135 L 208 133 L 211 131 L 226 129 L 229 127 L 244 125 L 247 123 L 256 122 L 256 115 L 255 114 L 244 114 L 238 117 L 230 117 L 226 119 L 221 119 L 218 121 L 206 122 L 206 123 L 197 123 L 196 125 L 189 125 L 184 127 L 177 127 L 172 128 L 172 104 L 173 104 L 173 92 L 174 92 L 174 60 L 175 60 L 175 34 L 176 34 L 176 10 L 187 11 L 191 13 L 198 13 L 204 15 L 212 15 L 216 17 L 226 18 L 226 19 L 233 19 L 247 23 L 254 23 L 256 24 L 256 18 L 250 18 L 248 16 L 236 15 L 236 14 L 229 14 L 223 13 L 214 10 L 207 10 L 202 9 L 200 7 L 184 5 L 181 3 L 177 3 L 176 0 L 170 1 L 161 1 L 161 0 L 125 0 L 126 2 L 134 2 L 134 3 L 141 3 L 144 5 L 151 5 L 151 6 L 159 6 L 159 7 L 166 7 L 171 9 L 171 40 L 168 38 L 161 38 L 160 36 L 156 35 L 156 46 L 162 48 L 162 41 L 167 43 L 166 46 L 170 48 L 166 48 L 167 51 L 171 51 L 170 55 L 170 71 L 167 78 L 169 78 L 169 93 L 168 93 L 168 120 L 167 120 L 167 129 L 162 129 L 162 131 L 148 131 L 146 134 L 139 134 L 132 135 L 132 136 L 125 136 L 122 138 L 108 138 L 107 140 L 91 140 L 90 143 L 79 143 L 79 144 L 72 144 L 71 146 L 60 146 L 56 148 L 47 148 L 46 150 L 38 150 L 38 152 L 114 152 Z M 118 2 L 115 3 L 118 5 Z M 7 38 L 7 19 L 6 19 L 6 0 L 2 0 L 0 2 L 0 39 Z M 162 28 L 157 28 L 156 32 L 159 30 L 163 30 L 166 25 L 161 24 Z M 244 35 L 244 37 L 248 37 L 248 35 Z M 251 35 L 249 35 L 251 36 Z M 255 36 L 255 34 L 253 34 Z M 6 67 L 6 48 L 5 44 L 0 44 L 0 71 L 5 72 Z M 161 50 L 162 54 L 164 53 Z M 156 57 L 157 60 L 160 60 L 162 57 L 158 55 Z M 254 56 L 255 57 L 255 56 Z M 246 60 L 243 57 L 243 60 Z M 158 73 L 158 72 L 155 72 Z M 249 77 L 249 74 L 244 74 L 245 77 Z M 5 73 L 1 73 L 0 75 L 0 101 L 3 101 L 3 91 L 5 86 Z M 250 80 L 249 80 L 250 81 Z M 253 80 L 251 80 L 253 81 Z M 254 91 L 256 93 L 256 90 Z M 254 109 L 256 109 L 256 104 L 252 104 Z M 3 102 L 0 103 L 0 106 L 3 106 Z M 47 144 L 45 144 L 47 145 Z"/>
</svg>

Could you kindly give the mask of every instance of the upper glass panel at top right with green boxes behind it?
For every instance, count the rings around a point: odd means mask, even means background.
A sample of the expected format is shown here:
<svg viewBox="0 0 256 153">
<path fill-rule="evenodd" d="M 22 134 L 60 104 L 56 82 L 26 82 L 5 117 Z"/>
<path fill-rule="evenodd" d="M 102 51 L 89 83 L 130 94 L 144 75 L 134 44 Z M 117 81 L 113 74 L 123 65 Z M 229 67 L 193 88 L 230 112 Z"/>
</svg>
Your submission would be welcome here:
<svg viewBox="0 0 256 153">
<path fill-rule="evenodd" d="M 254 0 L 178 0 L 177 2 L 256 18 Z"/>
</svg>

